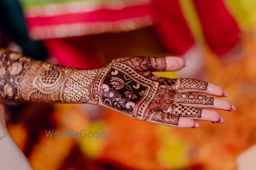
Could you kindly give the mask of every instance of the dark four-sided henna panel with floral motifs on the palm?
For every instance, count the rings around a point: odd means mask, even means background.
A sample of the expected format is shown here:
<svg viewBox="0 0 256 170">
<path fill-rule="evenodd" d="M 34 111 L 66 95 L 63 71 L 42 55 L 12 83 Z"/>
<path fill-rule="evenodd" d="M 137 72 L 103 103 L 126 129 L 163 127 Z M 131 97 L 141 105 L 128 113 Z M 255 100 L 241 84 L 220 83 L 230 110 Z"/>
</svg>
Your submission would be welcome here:
<svg viewBox="0 0 256 170">
<path fill-rule="evenodd" d="M 123 71 L 111 68 L 101 84 L 100 97 L 104 105 L 131 115 L 147 91 L 147 86 Z"/>
</svg>

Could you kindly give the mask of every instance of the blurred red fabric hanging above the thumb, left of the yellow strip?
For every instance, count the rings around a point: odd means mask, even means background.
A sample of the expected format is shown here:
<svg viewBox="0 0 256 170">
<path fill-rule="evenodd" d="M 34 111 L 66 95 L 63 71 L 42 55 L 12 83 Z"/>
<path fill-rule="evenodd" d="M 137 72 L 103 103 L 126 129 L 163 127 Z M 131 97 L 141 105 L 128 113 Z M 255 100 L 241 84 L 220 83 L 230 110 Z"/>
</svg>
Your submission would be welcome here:
<svg viewBox="0 0 256 170">
<path fill-rule="evenodd" d="M 195 40 L 182 14 L 179 1 L 154 0 L 152 8 L 156 33 L 167 51 L 174 55 L 187 52 L 195 44 Z"/>
</svg>

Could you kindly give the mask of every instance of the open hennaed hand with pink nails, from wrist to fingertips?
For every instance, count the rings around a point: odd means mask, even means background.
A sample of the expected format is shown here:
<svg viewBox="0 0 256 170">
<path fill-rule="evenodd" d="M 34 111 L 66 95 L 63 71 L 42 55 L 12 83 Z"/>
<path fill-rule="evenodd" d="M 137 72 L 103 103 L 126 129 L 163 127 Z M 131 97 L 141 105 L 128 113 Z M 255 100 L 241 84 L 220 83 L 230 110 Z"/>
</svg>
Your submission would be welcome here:
<svg viewBox="0 0 256 170">
<path fill-rule="evenodd" d="M 115 59 L 94 79 L 92 96 L 106 107 L 138 120 L 177 128 L 193 128 L 195 120 L 223 122 L 216 111 L 233 111 L 221 87 L 190 78 L 168 79 L 152 71 L 175 71 L 185 66 L 180 57 Z"/>
</svg>

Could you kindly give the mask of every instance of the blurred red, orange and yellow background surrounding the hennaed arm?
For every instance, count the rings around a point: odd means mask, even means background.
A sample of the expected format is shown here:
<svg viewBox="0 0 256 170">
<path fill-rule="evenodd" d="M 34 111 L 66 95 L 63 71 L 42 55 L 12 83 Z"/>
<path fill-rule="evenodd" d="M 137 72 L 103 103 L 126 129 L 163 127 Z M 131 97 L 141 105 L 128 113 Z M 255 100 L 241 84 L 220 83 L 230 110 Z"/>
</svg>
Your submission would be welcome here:
<svg viewBox="0 0 256 170">
<path fill-rule="evenodd" d="M 217 84 L 237 108 L 220 111 L 224 124 L 175 129 L 94 105 L 6 103 L 7 128 L 34 169 L 256 169 L 256 1 L 2 0 L 0 37 L 81 69 L 183 56 L 189 67 L 155 74 Z M 104 129 L 105 138 L 47 138 L 52 129 Z"/>
</svg>

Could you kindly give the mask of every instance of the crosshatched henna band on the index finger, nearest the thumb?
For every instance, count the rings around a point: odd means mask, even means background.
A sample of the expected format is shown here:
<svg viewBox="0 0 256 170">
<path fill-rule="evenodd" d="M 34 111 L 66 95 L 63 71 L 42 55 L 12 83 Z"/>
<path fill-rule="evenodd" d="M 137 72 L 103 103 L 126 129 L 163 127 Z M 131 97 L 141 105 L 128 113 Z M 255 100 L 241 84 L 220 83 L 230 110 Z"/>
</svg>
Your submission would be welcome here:
<svg viewBox="0 0 256 170">
<path fill-rule="evenodd" d="M 207 90 L 208 83 L 196 79 L 180 78 L 180 86 L 178 90 Z"/>
</svg>

